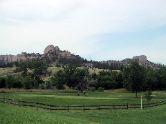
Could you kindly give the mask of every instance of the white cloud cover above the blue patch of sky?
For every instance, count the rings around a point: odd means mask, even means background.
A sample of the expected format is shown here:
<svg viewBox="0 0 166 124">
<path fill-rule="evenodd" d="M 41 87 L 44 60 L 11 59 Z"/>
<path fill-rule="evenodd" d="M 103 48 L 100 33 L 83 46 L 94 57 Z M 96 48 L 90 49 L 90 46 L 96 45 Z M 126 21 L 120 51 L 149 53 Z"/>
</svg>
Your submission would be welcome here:
<svg viewBox="0 0 166 124">
<path fill-rule="evenodd" d="M 102 43 L 85 39 L 166 25 L 165 5 L 165 0 L 1 0 L 0 52 L 40 52 L 57 44 L 83 56 L 99 54 Z M 130 56 L 125 51 L 118 55 Z"/>
</svg>

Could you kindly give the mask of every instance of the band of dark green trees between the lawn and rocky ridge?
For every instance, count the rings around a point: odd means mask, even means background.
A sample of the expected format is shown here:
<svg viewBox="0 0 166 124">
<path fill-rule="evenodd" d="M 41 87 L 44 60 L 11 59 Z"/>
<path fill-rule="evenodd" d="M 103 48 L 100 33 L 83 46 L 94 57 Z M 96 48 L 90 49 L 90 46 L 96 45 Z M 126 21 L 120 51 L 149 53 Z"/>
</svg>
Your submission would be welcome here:
<svg viewBox="0 0 166 124">
<path fill-rule="evenodd" d="M 42 88 L 64 89 L 65 86 L 81 92 L 89 90 L 109 90 L 126 88 L 137 92 L 166 89 L 166 68 L 145 68 L 137 62 L 121 68 L 119 71 L 103 70 L 89 73 L 87 67 L 65 65 L 56 74 L 48 76 L 46 61 L 37 59 L 16 63 L 20 75 L 0 77 L 0 88 Z M 49 77 L 44 80 L 44 77 Z"/>
</svg>

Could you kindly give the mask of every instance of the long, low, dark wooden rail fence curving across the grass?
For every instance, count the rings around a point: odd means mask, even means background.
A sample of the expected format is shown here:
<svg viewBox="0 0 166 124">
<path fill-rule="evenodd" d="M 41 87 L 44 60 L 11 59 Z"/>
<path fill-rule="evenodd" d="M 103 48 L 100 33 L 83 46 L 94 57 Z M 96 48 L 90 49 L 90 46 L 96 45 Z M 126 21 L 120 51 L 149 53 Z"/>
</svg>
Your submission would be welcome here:
<svg viewBox="0 0 166 124">
<path fill-rule="evenodd" d="M 34 108 L 41 108 L 50 111 L 55 110 L 115 110 L 115 109 L 136 109 L 140 108 L 140 104 L 112 104 L 112 105 L 50 105 L 40 102 L 31 102 L 25 100 L 16 100 L 12 98 L 0 98 L 0 102 L 13 104 L 17 106 L 27 106 Z M 143 108 L 155 107 L 166 104 L 166 100 L 162 100 L 159 102 L 152 102 L 148 104 L 143 104 Z"/>
</svg>

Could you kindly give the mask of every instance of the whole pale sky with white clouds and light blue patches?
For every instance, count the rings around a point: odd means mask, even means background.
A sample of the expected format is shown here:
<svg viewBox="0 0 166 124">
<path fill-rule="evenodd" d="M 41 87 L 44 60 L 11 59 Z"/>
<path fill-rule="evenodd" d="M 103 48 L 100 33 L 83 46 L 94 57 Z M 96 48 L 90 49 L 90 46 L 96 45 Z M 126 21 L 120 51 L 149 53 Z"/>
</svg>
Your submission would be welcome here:
<svg viewBox="0 0 166 124">
<path fill-rule="evenodd" d="M 92 60 L 166 64 L 166 0 L 0 0 L 0 54 L 49 45 Z"/>
</svg>

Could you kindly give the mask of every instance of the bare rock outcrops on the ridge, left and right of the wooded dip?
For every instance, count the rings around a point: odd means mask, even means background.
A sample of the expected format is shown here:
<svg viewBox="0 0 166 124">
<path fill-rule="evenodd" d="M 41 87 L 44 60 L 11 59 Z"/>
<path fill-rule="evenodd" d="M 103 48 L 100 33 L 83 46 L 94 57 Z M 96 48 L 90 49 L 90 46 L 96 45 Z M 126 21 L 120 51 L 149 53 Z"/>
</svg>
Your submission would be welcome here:
<svg viewBox="0 0 166 124">
<path fill-rule="evenodd" d="M 20 62 L 20 61 L 29 61 L 32 59 L 46 59 L 50 63 L 59 61 L 59 60 L 66 60 L 68 61 L 69 59 L 77 59 L 79 60 L 80 57 L 71 54 L 69 51 L 62 51 L 59 49 L 58 46 L 54 45 L 48 45 L 44 49 L 43 54 L 39 53 L 26 53 L 23 52 L 18 55 L 0 55 L 0 66 L 7 65 L 9 63 L 13 62 Z M 116 60 L 108 60 L 108 61 L 102 61 L 99 62 L 100 64 L 107 64 L 112 67 L 120 68 L 122 66 L 127 66 L 129 65 L 132 61 L 137 61 L 140 65 L 145 66 L 145 67 L 154 67 L 154 68 L 159 68 L 161 65 L 160 64 L 154 64 L 150 61 L 147 60 L 147 57 L 145 55 L 141 56 L 134 56 L 131 59 L 124 59 L 122 61 L 116 61 Z M 90 64 L 92 64 L 90 62 Z M 89 66 L 89 65 L 86 65 Z M 90 65 L 92 66 L 92 65 Z"/>
</svg>

